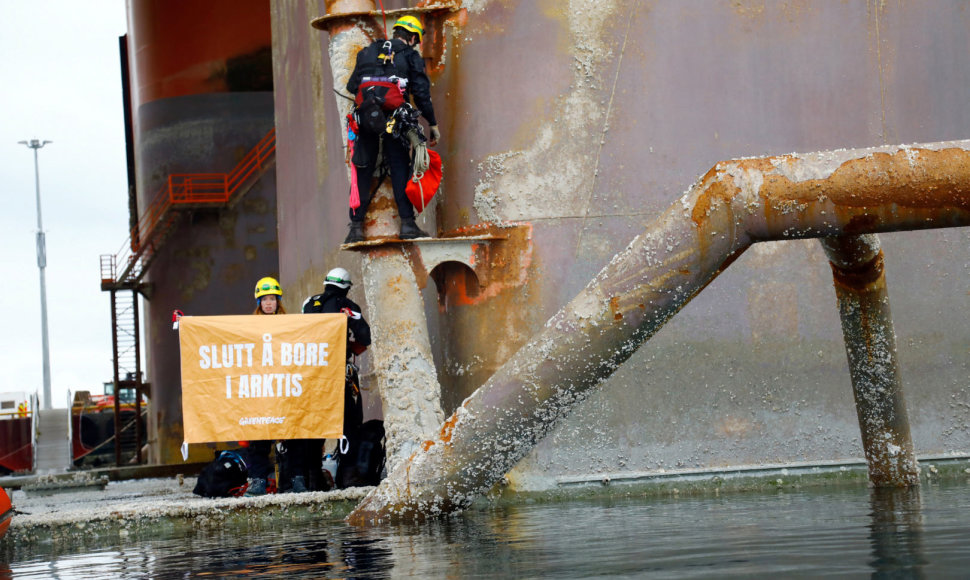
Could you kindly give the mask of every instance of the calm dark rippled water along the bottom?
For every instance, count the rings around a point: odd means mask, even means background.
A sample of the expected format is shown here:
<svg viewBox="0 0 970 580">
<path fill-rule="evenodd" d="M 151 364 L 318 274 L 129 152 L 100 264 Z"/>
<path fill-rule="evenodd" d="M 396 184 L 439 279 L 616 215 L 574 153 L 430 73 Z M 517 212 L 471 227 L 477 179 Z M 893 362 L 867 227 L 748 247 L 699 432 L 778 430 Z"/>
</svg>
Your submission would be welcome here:
<svg viewBox="0 0 970 580">
<path fill-rule="evenodd" d="M 968 578 L 970 486 L 782 490 L 302 519 L 7 550 L 0 578 Z"/>
</svg>

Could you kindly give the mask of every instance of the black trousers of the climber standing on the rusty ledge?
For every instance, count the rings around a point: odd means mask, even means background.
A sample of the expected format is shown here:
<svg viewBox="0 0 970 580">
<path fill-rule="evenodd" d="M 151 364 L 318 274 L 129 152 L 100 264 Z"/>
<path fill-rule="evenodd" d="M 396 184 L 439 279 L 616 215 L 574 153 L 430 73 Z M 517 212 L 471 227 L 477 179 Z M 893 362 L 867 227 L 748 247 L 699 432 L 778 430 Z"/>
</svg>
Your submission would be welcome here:
<svg viewBox="0 0 970 580">
<path fill-rule="evenodd" d="M 384 159 L 391 173 L 391 187 L 394 189 L 394 202 L 402 220 L 414 219 L 414 206 L 407 196 L 408 180 L 411 179 L 411 152 L 399 139 L 391 135 L 358 135 L 354 145 L 354 159 L 363 159 L 366 165 L 358 166 L 357 190 L 360 193 L 360 207 L 350 210 L 350 221 L 363 222 L 367 206 L 371 201 L 371 182 L 377 169 L 377 153 L 380 141 L 384 140 Z M 357 150 L 360 148 L 360 151 Z M 356 162 L 355 162 L 356 163 Z"/>
</svg>

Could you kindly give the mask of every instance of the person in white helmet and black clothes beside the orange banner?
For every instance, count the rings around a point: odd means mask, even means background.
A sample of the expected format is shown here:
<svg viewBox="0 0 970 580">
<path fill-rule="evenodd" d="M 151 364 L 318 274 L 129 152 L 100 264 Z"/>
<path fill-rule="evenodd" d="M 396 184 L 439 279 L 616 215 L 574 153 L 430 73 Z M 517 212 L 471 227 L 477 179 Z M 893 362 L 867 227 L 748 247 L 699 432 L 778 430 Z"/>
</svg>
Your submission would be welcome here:
<svg viewBox="0 0 970 580">
<path fill-rule="evenodd" d="M 361 314 L 360 306 L 347 297 L 352 285 L 353 282 L 347 270 L 334 268 L 327 272 L 323 282 L 323 293 L 314 294 L 303 301 L 304 314 L 342 313 L 347 316 L 347 375 L 344 383 L 343 430 L 349 445 L 340 450 L 338 462 L 342 464 L 346 463 L 344 458 L 347 449 L 354 447 L 354 439 L 358 437 L 364 420 L 356 357 L 363 354 L 371 343 L 370 325 Z M 321 441 L 320 444 L 322 443 Z M 316 449 L 308 449 L 308 452 L 311 456 L 318 453 Z"/>
</svg>

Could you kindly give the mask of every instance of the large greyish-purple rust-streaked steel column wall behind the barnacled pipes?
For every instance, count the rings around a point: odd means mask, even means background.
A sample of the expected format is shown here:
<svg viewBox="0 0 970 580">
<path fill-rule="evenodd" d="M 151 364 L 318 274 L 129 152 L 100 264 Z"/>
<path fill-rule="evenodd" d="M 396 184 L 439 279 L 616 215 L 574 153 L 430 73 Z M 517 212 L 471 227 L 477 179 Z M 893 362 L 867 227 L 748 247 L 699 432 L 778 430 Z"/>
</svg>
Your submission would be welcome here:
<svg viewBox="0 0 970 580">
<path fill-rule="evenodd" d="M 326 70 L 329 35 L 308 24 L 336 4 L 271 4 L 287 24 L 278 38 L 274 28 L 281 281 L 303 295 L 334 265 L 358 279 L 362 256 L 340 250 L 343 119 Z M 384 2 L 388 10 L 415 4 Z M 529 234 L 505 244 L 515 259 L 488 288 L 457 262 L 416 273 L 446 413 L 680 197 L 699 168 L 970 134 L 962 0 L 453 4 L 440 44 L 422 49 L 445 163 L 434 215 L 423 219 L 439 232 L 515 222 Z M 438 30 L 426 23 L 430 40 Z M 908 393 L 916 450 L 964 450 L 970 327 L 954 313 L 970 309 L 970 229 L 882 243 L 900 365 L 919 381 Z M 814 239 L 755 244 L 516 464 L 509 489 L 555 489 L 570 476 L 861 459 L 831 280 Z"/>
</svg>

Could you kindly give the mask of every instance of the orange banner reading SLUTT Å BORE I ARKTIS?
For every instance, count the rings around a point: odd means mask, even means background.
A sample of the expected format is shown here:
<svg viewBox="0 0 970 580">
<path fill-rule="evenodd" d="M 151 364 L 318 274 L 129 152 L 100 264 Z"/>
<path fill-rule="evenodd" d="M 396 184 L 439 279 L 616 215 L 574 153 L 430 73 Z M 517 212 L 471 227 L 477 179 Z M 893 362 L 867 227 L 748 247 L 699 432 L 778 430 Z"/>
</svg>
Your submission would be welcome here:
<svg viewBox="0 0 970 580">
<path fill-rule="evenodd" d="M 185 316 L 186 443 L 339 438 L 347 317 Z"/>
</svg>

